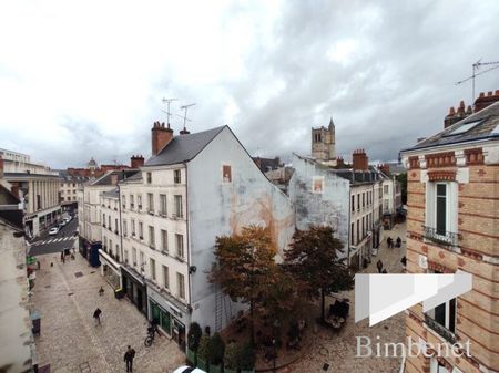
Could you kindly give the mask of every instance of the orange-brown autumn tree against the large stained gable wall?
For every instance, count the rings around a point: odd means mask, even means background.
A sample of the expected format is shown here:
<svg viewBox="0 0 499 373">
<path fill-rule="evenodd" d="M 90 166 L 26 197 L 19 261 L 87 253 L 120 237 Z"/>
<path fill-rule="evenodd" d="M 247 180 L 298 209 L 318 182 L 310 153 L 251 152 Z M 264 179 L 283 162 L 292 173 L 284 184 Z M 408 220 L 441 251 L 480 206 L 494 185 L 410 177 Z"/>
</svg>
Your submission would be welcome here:
<svg viewBox="0 0 499 373">
<path fill-rule="evenodd" d="M 233 301 L 249 303 L 252 343 L 255 341 L 254 313 L 269 286 L 276 263 L 276 248 L 268 228 L 244 227 L 241 235 L 216 238 L 214 263 L 208 277 Z"/>
</svg>

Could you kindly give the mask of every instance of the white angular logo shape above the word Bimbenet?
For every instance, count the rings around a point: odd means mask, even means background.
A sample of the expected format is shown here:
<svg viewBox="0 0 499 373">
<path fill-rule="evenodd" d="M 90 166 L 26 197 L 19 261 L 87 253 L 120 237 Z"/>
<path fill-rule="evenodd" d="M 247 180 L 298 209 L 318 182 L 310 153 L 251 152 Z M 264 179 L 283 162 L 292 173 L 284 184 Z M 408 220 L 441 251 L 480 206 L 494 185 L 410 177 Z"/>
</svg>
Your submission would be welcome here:
<svg viewBox="0 0 499 373">
<path fill-rule="evenodd" d="M 355 322 L 369 318 L 373 327 L 422 302 L 422 312 L 472 289 L 472 276 L 454 274 L 356 274 Z"/>
</svg>

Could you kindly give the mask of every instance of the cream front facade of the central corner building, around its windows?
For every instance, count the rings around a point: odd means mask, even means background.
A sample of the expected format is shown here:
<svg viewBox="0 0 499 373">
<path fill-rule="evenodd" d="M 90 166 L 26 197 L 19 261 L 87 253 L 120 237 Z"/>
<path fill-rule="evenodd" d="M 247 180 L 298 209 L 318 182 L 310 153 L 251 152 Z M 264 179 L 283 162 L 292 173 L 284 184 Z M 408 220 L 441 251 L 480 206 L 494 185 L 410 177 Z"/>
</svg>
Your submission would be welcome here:
<svg viewBox="0 0 499 373">
<path fill-rule="evenodd" d="M 174 170 L 180 170 L 181 183 L 174 182 Z M 189 267 L 187 267 L 187 224 L 185 207 L 185 168 L 184 165 L 144 167 L 141 170 L 142 180 L 128 182 L 120 185 L 121 198 L 125 200 L 122 208 L 123 255 L 128 263 L 139 273 L 143 269 L 144 276 L 159 288 L 175 297 L 181 303 L 187 304 Z M 151 184 L 147 184 L 147 173 L 151 173 Z M 153 209 L 149 211 L 149 194 L 153 195 Z M 160 196 L 166 196 L 166 215 L 161 214 Z M 131 197 L 133 196 L 133 197 Z M 175 196 L 182 198 L 182 217 L 176 216 Z M 133 199 L 133 207 L 131 201 Z M 142 207 L 139 208 L 139 200 Z M 135 235 L 132 231 L 132 221 L 135 226 Z M 143 232 L 140 238 L 139 225 L 142 222 Z M 154 244 L 151 246 L 150 228 L 154 228 Z M 166 246 L 163 247 L 162 230 L 166 232 Z M 179 236 L 179 237 L 177 237 Z M 177 253 L 177 239 L 183 242 L 183 258 Z M 143 260 L 141 261 L 141 258 Z M 151 259 L 153 261 L 151 261 Z M 154 265 L 154 269 L 152 268 Z M 184 279 L 184 291 L 179 283 L 179 274 Z M 183 298 L 181 294 L 183 293 Z"/>
</svg>

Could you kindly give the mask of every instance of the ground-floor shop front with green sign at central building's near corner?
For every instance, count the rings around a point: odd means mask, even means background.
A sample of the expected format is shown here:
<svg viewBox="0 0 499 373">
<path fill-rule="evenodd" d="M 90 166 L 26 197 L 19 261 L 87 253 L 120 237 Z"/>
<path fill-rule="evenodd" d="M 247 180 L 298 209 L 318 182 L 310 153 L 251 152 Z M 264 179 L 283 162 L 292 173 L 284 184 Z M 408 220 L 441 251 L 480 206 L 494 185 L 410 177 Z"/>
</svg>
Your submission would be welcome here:
<svg viewBox="0 0 499 373">
<path fill-rule="evenodd" d="M 185 350 L 186 325 L 189 325 L 190 312 L 165 290 L 147 281 L 149 319 L 174 340 L 182 350 Z"/>
</svg>

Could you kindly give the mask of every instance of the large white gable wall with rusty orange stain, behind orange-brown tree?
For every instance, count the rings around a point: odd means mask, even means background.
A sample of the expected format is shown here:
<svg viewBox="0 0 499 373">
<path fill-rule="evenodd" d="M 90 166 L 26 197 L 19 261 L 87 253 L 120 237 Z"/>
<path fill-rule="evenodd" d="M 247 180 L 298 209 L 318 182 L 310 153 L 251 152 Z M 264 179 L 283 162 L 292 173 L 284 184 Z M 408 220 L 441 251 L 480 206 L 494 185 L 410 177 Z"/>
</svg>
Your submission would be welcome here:
<svg viewBox="0 0 499 373">
<path fill-rule="evenodd" d="M 225 177 L 224 166 L 226 172 L 230 169 Z M 186 204 L 190 266 L 196 267 L 190 279 L 192 319 L 202 328 L 210 325 L 215 330 L 215 312 L 217 307 L 223 307 L 224 328 L 244 305 L 232 303 L 227 297 L 223 304 L 216 304 L 215 287 L 207 280 L 215 261 L 216 237 L 240 232 L 249 225 L 266 226 L 282 253 L 294 232 L 294 209 L 287 196 L 262 174 L 228 127 L 187 164 Z"/>
</svg>

